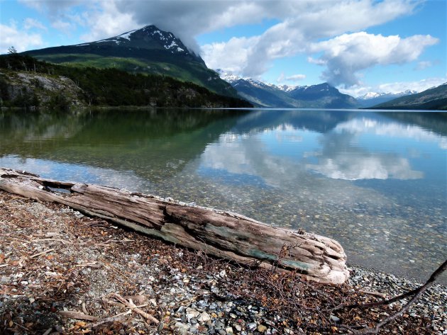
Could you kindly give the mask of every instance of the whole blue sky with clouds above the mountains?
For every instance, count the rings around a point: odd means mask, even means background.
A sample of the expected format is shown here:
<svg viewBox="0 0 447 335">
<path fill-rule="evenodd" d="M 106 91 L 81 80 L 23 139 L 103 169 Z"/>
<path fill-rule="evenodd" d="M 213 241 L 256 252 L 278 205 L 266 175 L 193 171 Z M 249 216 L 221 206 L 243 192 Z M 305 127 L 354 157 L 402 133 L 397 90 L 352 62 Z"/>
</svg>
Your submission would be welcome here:
<svg viewBox="0 0 447 335">
<path fill-rule="evenodd" d="M 73 45 L 154 24 L 211 69 L 343 93 L 447 81 L 447 0 L 0 0 L 0 53 Z"/>
</svg>

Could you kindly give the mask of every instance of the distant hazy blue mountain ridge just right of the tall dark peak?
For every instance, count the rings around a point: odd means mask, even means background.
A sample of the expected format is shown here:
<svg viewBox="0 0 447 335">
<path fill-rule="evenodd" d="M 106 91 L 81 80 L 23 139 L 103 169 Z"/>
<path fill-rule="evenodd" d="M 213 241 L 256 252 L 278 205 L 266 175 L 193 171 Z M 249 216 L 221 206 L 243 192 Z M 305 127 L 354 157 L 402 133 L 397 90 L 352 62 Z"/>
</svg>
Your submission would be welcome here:
<svg viewBox="0 0 447 335">
<path fill-rule="evenodd" d="M 217 70 L 219 72 L 219 70 Z M 311 86 L 276 86 L 262 81 L 222 74 L 239 95 L 261 107 L 275 108 L 356 108 L 358 102 L 328 83 Z"/>
</svg>

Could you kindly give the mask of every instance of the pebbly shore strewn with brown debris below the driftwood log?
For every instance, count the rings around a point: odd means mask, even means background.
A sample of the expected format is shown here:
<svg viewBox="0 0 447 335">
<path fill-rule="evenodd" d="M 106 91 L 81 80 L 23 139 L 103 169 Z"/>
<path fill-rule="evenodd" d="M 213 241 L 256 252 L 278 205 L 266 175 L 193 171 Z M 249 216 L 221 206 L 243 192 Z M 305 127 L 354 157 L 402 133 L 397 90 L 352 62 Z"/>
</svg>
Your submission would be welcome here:
<svg viewBox="0 0 447 335">
<path fill-rule="evenodd" d="M 303 282 L 3 191 L 0 232 L 4 334 L 346 334 L 343 324 L 372 327 L 404 302 L 331 313 L 338 303 L 376 301 L 419 286 L 349 263 L 353 273 L 346 284 Z M 127 302 L 133 297 L 160 323 L 126 309 L 114 294 Z M 447 334 L 446 305 L 446 287 L 435 284 L 380 334 Z"/>
</svg>

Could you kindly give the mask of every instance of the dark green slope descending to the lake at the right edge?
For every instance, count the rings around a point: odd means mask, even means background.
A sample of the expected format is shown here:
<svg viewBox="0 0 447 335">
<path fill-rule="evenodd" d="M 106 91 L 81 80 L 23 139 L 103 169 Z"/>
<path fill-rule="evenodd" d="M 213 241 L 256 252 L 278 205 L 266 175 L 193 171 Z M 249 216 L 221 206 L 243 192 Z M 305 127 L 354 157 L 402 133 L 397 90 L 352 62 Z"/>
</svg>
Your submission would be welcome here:
<svg viewBox="0 0 447 335">
<path fill-rule="evenodd" d="M 375 109 L 447 110 L 447 83 L 421 93 L 402 96 L 373 106 Z"/>
</svg>

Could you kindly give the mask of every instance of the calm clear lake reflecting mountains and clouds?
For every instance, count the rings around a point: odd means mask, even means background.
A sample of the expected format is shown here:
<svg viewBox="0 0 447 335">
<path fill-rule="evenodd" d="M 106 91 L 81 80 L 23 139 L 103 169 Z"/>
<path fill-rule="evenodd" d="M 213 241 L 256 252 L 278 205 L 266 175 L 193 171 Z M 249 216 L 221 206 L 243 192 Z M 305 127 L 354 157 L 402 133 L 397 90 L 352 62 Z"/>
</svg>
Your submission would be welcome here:
<svg viewBox="0 0 447 335">
<path fill-rule="evenodd" d="M 1 112 L 0 166 L 302 228 L 407 277 L 446 259 L 447 113 Z"/>
</svg>

